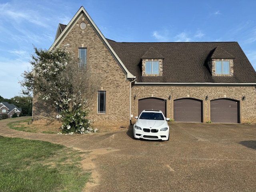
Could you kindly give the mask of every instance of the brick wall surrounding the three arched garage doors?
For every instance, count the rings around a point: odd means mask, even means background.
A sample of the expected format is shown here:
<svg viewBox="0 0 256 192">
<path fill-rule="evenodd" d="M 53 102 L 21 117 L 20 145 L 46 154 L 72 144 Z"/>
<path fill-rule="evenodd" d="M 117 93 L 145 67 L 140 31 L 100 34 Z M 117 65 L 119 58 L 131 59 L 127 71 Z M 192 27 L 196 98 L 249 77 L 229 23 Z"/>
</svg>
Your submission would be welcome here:
<svg viewBox="0 0 256 192">
<path fill-rule="evenodd" d="M 133 86 L 132 114 L 138 116 L 138 100 L 155 97 L 166 100 L 166 116 L 174 118 L 173 102 L 180 98 L 203 101 L 203 122 L 210 120 L 210 100 L 230 98 L 240 101 L 240 122 L 256 122 L 256 88 L 254 86 Z M 171 100 L 168 97 L 171 95 Z M 206 100 L 208 96 L 208 100 Z M 246 100 L 242 97 L 246 96 Z"/>
</svg>

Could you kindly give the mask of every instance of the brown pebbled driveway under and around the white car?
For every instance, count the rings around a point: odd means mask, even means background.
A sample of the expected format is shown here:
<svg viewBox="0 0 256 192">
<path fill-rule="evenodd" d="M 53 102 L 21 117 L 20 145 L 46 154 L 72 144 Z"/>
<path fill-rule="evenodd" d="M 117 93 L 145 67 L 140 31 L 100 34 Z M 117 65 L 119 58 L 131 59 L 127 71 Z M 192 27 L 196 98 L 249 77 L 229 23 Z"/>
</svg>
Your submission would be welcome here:
<svg viewBox="0 0 256 192">
<path fill-rule="evenodd" d="M 170 140 L 134 140 L 132 126 L 85 135 L 0 135 L 46 140 L 89 150 L 90 192 L 256 191 L 256 125 L 170 123 Z M 87 168 L 89 168 L 87 167 Z"/>
</svg>

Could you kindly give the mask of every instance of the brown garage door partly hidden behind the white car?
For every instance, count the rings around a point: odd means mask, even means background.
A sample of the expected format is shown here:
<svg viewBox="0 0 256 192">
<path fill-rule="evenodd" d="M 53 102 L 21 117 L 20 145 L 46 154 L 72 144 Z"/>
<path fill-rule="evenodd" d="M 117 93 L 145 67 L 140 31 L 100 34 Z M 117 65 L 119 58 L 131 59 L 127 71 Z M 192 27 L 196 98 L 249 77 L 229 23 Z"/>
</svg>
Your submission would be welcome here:
<svg viewBox="0 0 256 192">
<path fill-rule="evenodd" d="M 138 115 L 140 115 L 144 109 L 161 110 L 164 116 L 166 116 L 166 101 L 160 98 L 140 99 L 138 104 Z"/>
</svg>

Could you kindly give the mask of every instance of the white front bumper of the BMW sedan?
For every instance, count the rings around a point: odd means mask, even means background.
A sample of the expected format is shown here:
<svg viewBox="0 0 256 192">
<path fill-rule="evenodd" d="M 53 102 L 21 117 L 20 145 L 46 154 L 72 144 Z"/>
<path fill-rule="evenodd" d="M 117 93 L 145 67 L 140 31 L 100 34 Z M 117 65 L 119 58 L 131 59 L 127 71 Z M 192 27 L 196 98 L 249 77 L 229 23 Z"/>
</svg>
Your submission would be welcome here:
<svg viewBox="0 0 256 192">
<path fill-rule="evenodd" d="M 144 132 L 143 130 L 138 130 L 133 128 L 133 136 L 136 139 L 146 139 L 146 140 L 163 140 L 169 139 L 169 129 L 166 131 L 154 132 Z"/>
</svg>

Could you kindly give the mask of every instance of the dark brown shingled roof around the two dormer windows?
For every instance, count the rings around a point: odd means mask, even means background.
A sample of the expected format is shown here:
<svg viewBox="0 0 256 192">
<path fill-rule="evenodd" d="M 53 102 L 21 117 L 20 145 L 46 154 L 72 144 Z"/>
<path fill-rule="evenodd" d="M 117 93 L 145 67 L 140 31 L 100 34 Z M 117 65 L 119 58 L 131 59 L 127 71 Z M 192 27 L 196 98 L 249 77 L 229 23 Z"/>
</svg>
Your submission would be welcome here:
<svg viewBox="0 0 256 192">
<path fill-rule="evenodd" d="M 115 42 L 107 39 L 137 82 L 256 83 L 256 72 L 238 42 Z M 162 76 L 142 76 L 142 58 L 163 58 Z M 233 59 L 234 76 L 212 76 L 209 58 Z"/>
</svg>

